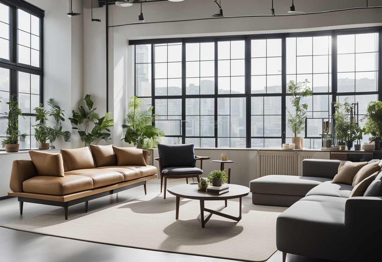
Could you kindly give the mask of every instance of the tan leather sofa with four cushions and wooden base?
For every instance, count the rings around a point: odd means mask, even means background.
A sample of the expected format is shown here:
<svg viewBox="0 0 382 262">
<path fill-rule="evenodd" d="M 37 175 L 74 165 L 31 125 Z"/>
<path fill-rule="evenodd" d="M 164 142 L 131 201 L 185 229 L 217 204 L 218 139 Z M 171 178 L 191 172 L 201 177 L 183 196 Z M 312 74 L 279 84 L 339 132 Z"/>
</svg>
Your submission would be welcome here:
<svg viewBox="0 0 382 262">
<path fill-rule="evenodd" d="M 157 168 L 147 165 L 148 151 L 142 149 L 110 145 L 62 149 L 61 155 L 29 153 L 31 159 L 13 161 L 12 191 L 8 192 L 9 196 L 18 197 L 20 214 L 24 202 L 40 203 L 62 206 L 65 219 L 68 219 L 69 206 L 85 202 L 87 212 L 89 200 L 140 185 L 144 186 L 146 194 L 146 181 L 157 177 Z M 55 173 L 61 168 L 62 174 L 57 176 Z"/>
</svg>

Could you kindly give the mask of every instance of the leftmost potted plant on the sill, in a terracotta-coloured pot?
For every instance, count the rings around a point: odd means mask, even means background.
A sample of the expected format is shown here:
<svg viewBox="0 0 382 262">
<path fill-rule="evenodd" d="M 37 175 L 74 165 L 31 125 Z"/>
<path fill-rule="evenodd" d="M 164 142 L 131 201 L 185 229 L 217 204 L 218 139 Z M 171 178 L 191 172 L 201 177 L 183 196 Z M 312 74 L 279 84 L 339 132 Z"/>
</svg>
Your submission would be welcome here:
<svg viewBox="0 0 382 262">
<path fill-rule="evenodd" d="M 6 102 L 9 105 L 9 111 L 5 113 L 3 118 L 8 120 L 6 127 L 6 136 L 1 136 L 5 138 L 2 141 L 2 146 L 5 147 L 6 152 L 18 152 L 20 148 L 19 136 L 26 138 L 26 134 L 20 134 L 19 131 L 19 116 L 23 116 L 21 109 L 19 108 L 19 102 L 16 99 L 16 95 L 11 95 L 11 101 Z"/>
</svg>

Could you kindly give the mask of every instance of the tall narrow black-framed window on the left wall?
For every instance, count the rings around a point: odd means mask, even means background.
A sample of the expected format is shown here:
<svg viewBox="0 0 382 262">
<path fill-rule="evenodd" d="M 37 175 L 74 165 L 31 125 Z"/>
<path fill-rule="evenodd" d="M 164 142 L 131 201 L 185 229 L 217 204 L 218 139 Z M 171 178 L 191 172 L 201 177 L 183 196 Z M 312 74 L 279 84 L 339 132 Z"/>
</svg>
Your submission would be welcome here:
<svg viewBox="0 0 382 262">
<path fill-rule="evenodd" d="M 21 150 L 38 146 L 32 125 L 33 108 L 43 102 L 43 18 L 44 10 L 26 1 L 0 0 L 0 116 L 9 109 L 6 102 L 18 99 L 19 130 L 27 134 L 19 138 Z M 5 130 L 0 118 L 0 134 Z"/>
</svg>

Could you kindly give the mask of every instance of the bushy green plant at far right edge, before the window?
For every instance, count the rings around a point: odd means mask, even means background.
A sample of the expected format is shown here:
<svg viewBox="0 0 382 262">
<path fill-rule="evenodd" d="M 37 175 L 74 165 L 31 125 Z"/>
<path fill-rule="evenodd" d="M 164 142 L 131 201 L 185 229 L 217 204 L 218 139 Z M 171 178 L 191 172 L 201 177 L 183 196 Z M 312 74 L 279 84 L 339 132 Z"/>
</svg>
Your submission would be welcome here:
<svg viewBox="0 0 382 262">
<path fill-rule="evenodd" d="M 361 121 L 365 121 L 363 126 L 364 133 L 371 136 L 370 141 L 376 145 L 375 150 L 379 150 L 382 138 L 382 102 L 369 102 L 366 114 Z"/>
</svg>

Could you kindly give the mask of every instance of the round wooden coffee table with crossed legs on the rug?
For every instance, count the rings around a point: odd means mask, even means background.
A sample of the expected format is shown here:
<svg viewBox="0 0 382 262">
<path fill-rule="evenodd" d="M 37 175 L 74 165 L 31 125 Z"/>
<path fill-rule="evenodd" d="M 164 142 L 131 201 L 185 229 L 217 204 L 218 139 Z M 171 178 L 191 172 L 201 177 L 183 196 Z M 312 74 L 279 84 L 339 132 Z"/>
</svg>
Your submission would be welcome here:
<svg viewBox="0 0 382 262">
<path fill-rule="evenodd" d="M 204 228 L 207 221 L 210 219 L 212 214 L 222 216 L 224 218 L 229 218 L 235 221 L 240 221 L 241 219 L 241 198 L 249 194 L 249 188 L 241 185 L 227 184 L 229 186 L 229 192 L 218 195 L 216 193 L 203 192 L 199 191 L 197 185 L 185 184 L 185 185 L 176 185 L 175 187 L 168 188 L 167 191 L 176 196 L 176 215 L 175 219 L 179 218 L 179 202 L 180 198 L 196 199 L 200 201 L 200 218 L 202 228 Z M 227 200 L 239 198 L 239 216 L 230 216 L 219 211 L 211 210 L 204 207 L 204 201 L 211 200 L 224 200 L 225 206 L 227 206 Z M 210 214 L 204 218 L 204 211 L 209 212 Z"/>
</svg>

